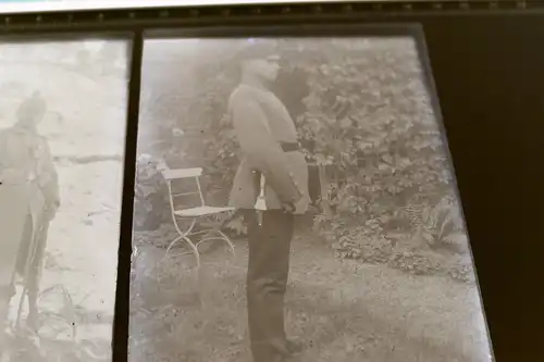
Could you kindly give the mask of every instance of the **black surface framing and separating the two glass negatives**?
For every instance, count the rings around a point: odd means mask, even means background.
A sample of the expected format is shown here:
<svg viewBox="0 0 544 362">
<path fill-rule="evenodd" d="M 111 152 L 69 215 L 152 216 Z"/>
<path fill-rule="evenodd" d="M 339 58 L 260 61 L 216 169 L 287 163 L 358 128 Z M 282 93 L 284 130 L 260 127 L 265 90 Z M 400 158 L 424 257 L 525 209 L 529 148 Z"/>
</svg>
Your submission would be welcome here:
<svg viewBox="0 0 544 362">
<path fill-rule="evenodd" d="M 234 10 L 233 10 L 234 9 Z M 127 361 L 128 284 L 141 30 L 277 24 L 420 23 L 447 132 L 496 361 L 542 361 L 543 1 L 193 7 L 0 15 L 2 39 L 135 34 L 114 321 Z M 304 21 L 304 22 L 302 22 Z M 296 35 L 297 30 L 293 34 Z M 26 35 L 27 37 L 5 37 Z M 57 39 L 57 38 L 55 38 Z"/>
</svg>

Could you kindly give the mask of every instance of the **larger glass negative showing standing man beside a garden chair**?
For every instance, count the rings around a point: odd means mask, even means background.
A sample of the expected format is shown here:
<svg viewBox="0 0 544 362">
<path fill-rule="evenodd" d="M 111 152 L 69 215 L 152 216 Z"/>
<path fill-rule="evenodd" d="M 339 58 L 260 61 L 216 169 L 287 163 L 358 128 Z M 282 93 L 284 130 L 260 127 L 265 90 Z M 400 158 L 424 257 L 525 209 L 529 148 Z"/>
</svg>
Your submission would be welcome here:
<svg viewBox="0 0 544 362">
<path fill-rule="evenodd" d="M 422 51 L 145 40 L 131 361 L 491 361 Z"/>
</svg>

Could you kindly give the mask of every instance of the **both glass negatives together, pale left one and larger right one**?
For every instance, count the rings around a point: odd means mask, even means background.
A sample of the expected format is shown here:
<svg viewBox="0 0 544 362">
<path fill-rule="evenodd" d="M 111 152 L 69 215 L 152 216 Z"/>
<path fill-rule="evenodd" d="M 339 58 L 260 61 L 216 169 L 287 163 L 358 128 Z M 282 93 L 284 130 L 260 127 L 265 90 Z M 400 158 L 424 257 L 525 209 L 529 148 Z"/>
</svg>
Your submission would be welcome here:
<svg viewBox="0 0 544 362">
<path fill-rule="evenodd" d="M 1 357 L 111 361 L 131 43 L 0 48 Z M 141 63 L 129 361 L 492 360 L 422 38 Z"/>
</svg>

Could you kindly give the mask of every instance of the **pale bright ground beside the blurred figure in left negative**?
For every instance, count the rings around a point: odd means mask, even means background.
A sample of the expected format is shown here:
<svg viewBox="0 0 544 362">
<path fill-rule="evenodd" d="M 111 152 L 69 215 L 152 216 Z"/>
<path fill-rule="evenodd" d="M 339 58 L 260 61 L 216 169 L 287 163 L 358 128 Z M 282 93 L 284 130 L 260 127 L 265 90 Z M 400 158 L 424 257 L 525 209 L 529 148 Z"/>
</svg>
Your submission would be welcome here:
<svg viewBox="0 0 544 362">
<path fill-rule="evenodd" d="M 58 172 L 63 204 L 50 225 L 39 335 L 67 346 L 90 341 L 94 361 L 111 361 L 122 167 L 108 161 L 60 164 Z M 11 323 L 21 291 L 12 299 Z"/>
</svg>

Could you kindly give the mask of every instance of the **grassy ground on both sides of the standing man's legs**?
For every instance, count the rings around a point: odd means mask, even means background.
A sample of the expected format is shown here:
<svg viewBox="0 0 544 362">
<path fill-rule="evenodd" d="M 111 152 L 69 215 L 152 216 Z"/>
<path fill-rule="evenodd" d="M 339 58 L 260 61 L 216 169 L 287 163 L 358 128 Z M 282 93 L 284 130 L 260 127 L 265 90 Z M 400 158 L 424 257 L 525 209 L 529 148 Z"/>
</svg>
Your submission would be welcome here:
<svg viewBox="0 0 544 362">
<path fill-rule="evenodd" d="M 131 361 L 250 362 L 246 336 L 245 240 L 169 257 L 136 236 Z M 478 288 L 334 258 L 300 227 L 293 244 L 287 330 L 306 348 L 299 362 L 491 361 Z"/>
</svg>

